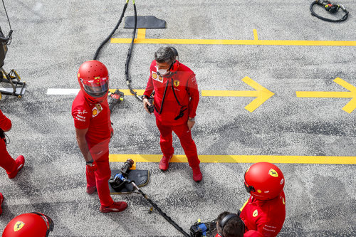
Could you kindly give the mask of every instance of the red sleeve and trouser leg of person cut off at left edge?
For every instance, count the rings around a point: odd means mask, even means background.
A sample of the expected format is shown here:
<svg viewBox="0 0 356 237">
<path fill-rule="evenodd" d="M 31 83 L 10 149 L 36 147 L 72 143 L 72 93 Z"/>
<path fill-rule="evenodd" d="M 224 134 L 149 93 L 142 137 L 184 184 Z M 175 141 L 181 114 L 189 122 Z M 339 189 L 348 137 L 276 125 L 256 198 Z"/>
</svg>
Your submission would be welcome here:
<svg viewBox="0 0 356 237">
<path fill-rule="evenodd" d="M 11 129 L 11 120 L 7 118 L 0 110 L 0 128 L 1 130 Z M 16 169 L 16 162 L 10 156 L 9 152 L 6 150 L 6 144 L 4 139 L 0 138 L 0 167 L 6 170 L 6 173 L 10 174 Z"/>
</svg>

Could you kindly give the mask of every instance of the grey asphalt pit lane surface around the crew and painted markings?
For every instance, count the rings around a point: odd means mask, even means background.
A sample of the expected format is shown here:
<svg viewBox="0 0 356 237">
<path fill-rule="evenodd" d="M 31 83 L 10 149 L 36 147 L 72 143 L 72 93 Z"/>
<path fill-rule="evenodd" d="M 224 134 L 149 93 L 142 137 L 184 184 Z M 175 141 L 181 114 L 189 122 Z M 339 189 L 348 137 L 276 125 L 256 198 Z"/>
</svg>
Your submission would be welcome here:
<svg viewBox="0 0 356 237">
<path fill-rule="evenodd" d="M 167 21 L 146 38 L 356 41 L 355 4 L 343 23 L 310 16 L 311 1 L 136 1 L 139 15 Z M 101 214 L 98 196 L 85 193 L 85 163 L 75 141 L 73 95 L 46 95 L 48 88 L 79 88 L 76 73 L 117 23 L 125 1 L 5 1 L 14 29 L 4 68 L 15 68 L 27 89 L 23 98 L 4 96 L 0 108 L 13 122 L 9 153 L 23 154 L 19 176 L 0 176 L 4 213 L 11 218 L 41 211 L 53 218 L 51 236 L 182 236 L 138 194 L 115 195 L 126 211 Z M 316 10 L 323 16 L 326 11 Z M 132 16 L 130 3 L 125 16 Z M 340 16 L 340 15 L 339 15 Z M 9 31 L 4 10 L 0 26 Z M 115 38 L 131 38 L 123 23 Z M 135 45 L 132 86 L 145 89 L 153 53 L 161 45 Z M 252 98 L 204 97 L 192 131 L 200 155 L 351 156 L 356 154 L 355 111 L 341 108 L 350 98 L 296 98 L 295 91 L 346 91 L 337 77 L 356 85 L 355 46 L 175 45 L 179 60 L 197 74 L 199 90 L 252 90 L 255 80 L 275 95 L 253 112 Z M 100 60 L 110 71 L 110 88 L 126 89 L 128 44 L 111 43 Z M 112 113 L 111 154 L 160 154 L 155 119 L 132 96 Z M 174 137 L 176 154 L 184 154 Z M 129 158 L 129 157 L 128 157 Z M 237 211 L 248 199 L 244 172 L 251 164 L 201 164 L 203 181 L 192 180 L 187 163 L 161 172 L 157 163 L 142 190 L 179 226 L 222 211 Z M 277 164 L 286 177 L 286 221 L 279 236 L 356 236 L 355 164 Z M 110 163 L 113 169 L 121 163 Z"/>
</svg>

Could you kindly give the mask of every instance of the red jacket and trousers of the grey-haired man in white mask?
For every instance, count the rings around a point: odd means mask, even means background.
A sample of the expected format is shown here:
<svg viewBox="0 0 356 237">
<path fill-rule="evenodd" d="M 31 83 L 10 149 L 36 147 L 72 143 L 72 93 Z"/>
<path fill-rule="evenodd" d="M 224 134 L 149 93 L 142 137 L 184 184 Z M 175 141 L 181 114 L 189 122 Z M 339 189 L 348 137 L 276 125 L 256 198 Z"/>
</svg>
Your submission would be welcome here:
<svg viewBox="0 0 356 237">
<path fill-rule="evenodd" d="M 144 95 L 150 97 L 152 91 L 155 90 L 155 116 L 156 125 L 160 132 L 159 144 L 162 153 L 166 157 L 174 153 L 174 148 L 172 147 L 172 132 L 174 132 L 179 137 L 188 158 L 189 166 L 197 167 L 200 163 L 197 146 L 187 126 L 188 117 L 195 117 L 199 103 L 197 80 L 193 71 L 186 65 L 179 63 L 177 60 L 174 64 L 175 71 L 171 70 L 169 75 L 161 76 L 157 74 L 156 60 L 152 61 L 150 78 Z M 164 91 L 166 91 L 165 95 Z M 180 112 L 183 113 L 183 116 L 174 120 Z"/>
</svg>

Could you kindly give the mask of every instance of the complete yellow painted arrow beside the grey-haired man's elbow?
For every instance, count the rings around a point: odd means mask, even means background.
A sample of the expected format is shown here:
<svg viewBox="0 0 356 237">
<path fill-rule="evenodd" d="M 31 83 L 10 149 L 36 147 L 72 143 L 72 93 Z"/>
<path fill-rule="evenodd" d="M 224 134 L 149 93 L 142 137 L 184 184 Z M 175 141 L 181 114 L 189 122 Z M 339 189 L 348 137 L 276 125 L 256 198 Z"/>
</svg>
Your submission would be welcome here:
<svg viewBox="0 0 356 237">
<path fill-rule="evenodd" d="M 245 77 L 242 81 L 255 90 L 201 90 L 201 96 L 256 97 L 255 100 L 252 100 L 252 102 L 245 107 L 249 112 L 253 112 L 253 110 L 256 110 L 263 102 L 274 95 L 274 93 L 256 83 L 256 81 L 251 78 Z"/>
</svg>

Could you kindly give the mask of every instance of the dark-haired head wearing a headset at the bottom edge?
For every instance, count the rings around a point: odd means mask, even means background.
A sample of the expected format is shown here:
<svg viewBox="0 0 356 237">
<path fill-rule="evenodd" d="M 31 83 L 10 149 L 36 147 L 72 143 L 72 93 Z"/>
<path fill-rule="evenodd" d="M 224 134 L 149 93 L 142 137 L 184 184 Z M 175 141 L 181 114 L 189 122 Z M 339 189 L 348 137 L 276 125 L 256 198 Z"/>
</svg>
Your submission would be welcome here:
<svg viewBox="0 0 356 237">
<path fill-rule="evenodd" d="M 229 221 L 225 223 L 224 226 L 221 226 L 221 221 L 224 217 L 231 214 L 229 211 L 224 211 L 217 218 L 217 223 L 219 224 L 220 232 L 224 237 L 243 237 L 245 233 L 244 221 L 241 220 L 239 214 L 231 217 Z"/>
</svg>

